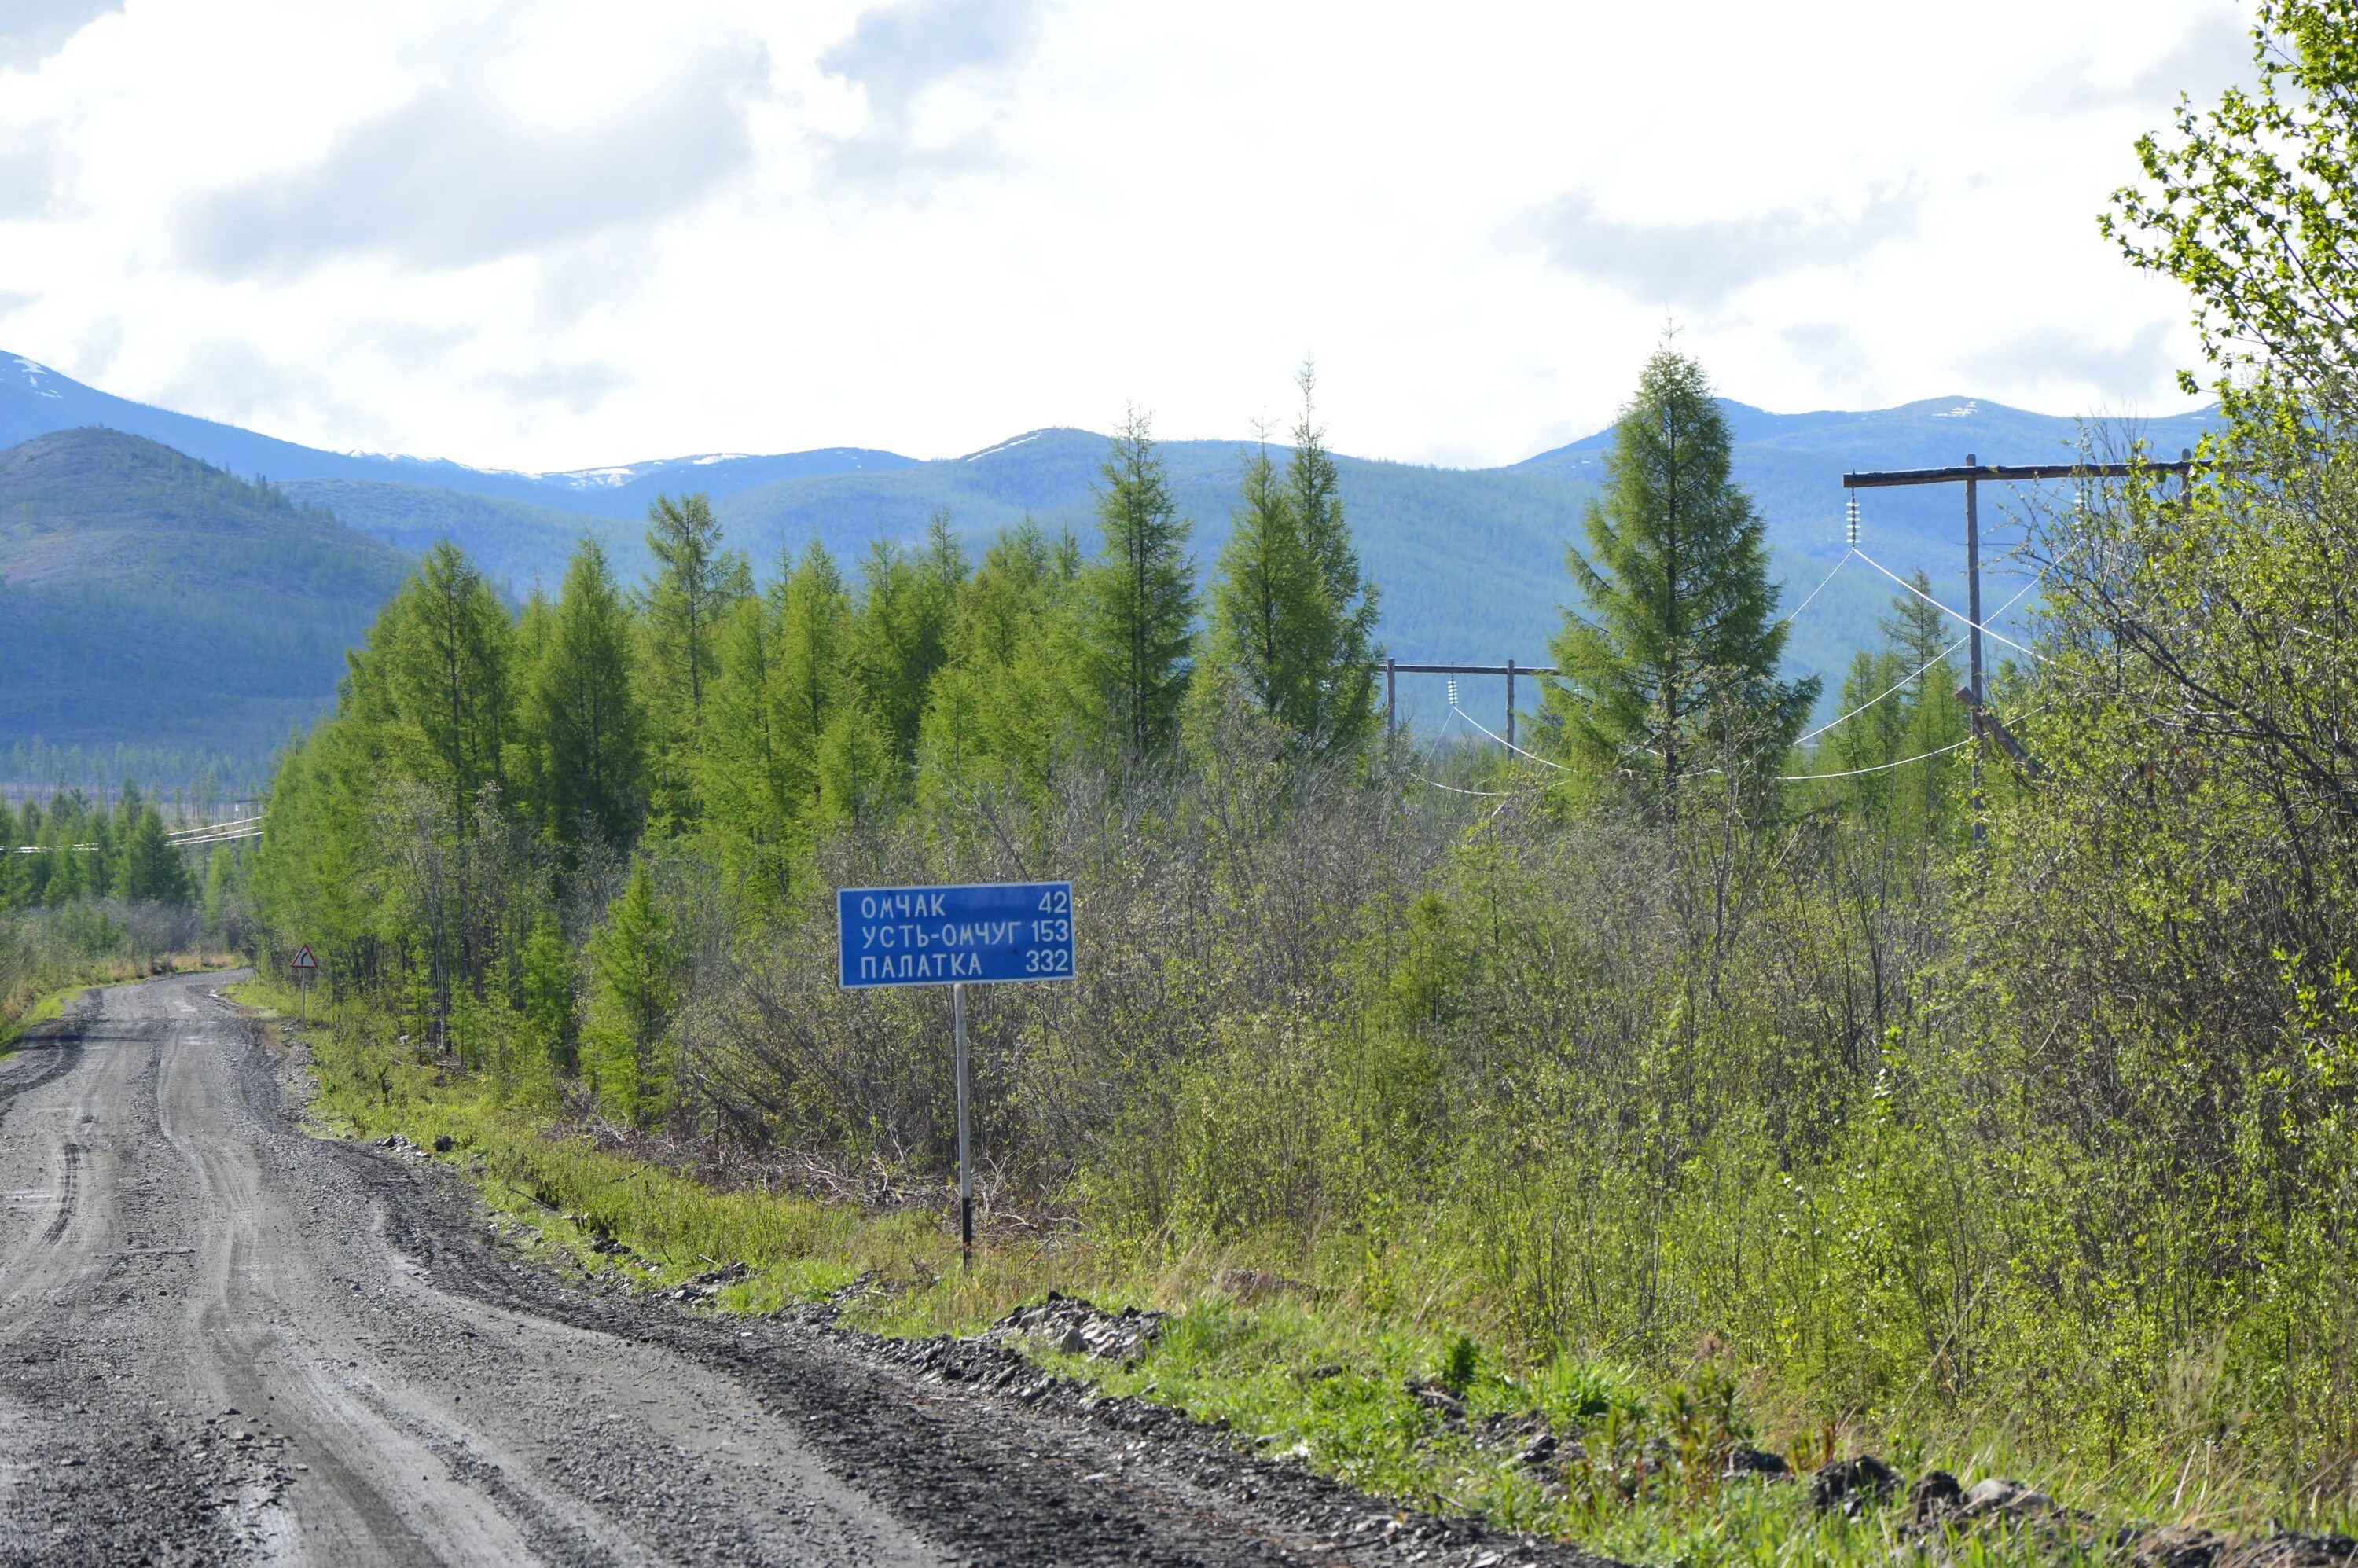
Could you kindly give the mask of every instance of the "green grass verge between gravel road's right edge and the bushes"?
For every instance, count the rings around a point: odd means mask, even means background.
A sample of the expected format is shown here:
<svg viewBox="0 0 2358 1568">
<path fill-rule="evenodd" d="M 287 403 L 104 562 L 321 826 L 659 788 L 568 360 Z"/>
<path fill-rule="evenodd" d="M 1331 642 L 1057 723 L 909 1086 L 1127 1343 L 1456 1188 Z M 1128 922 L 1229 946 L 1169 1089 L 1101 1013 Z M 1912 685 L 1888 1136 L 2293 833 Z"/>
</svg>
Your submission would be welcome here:
<svg viewBox="0 0 2358 1568">
<path fill-rule="evenodd" d="M 278 981 L 226 988 L 292 1016 Z M 1016 1342 L 1047 1370 L 1111 1396 L 1172 1405 L 1231 1429 L 1269 1457 L 1302 1460 L 1370 1495 L 1575 1540 L 1632 1563 L 1679 1568 L 1877 1566 L 1936 1547 L 1964 1568 L 2125 1561 L 2106 1530 L 2127 1521 L 2266 1533 L 2273 1495 L 2226 1450 L 2134 1452 L 2110 1464 L 2040 1455 L 2004 1429 L 1863 1431 L 1761 1419 L 1768 1391 L 1698 1356 L 1679 1382 L 1561 1353 L 1516 1365 L 1462 1332 L 1464 1259 L 1434 1233 L 1408 1233 L 1375 1259 L 1309 1259 L 1285 1278 L 1252 1247 L 1167 1254 L 1080 1233 L 997 1238 L 960 1266 L 955 1207 L 868 1210 L 790 1191 L 722 1188 L 630 1146 L 601 1144 L 531 1092 L 500 1089 L 446 1061 L 382 1040 L 382 1021 L 314 1002 L 304 1033 L 316 1068 L 311 1118 L 363 1141 L 399 1134 L 455 1165 L 507 1233 L 545 1261 L 630 1290 L 677 1290 L 714 1273 L 714 1306 L 769 1313 L 835 1302 L 842 1320 L 880 1335 L 967 1335 L 1049 1290 L 1108 1311 L 1170 1313 L 1132 1365 Z M 450 1148 L 432 1153 L 439 1139 Z M 1278 1259 L 1283 1261 L 1283 1259 Z M 1299 1261 L 1299 1259 L 1297 1259 Z M 1761 1431 L 1759 1427 L 1771 1427 Z M 1526 1462 L 1540 1431 L 1559 1450 Z M 1905 1509 L 1858 1518 L 1811 1509 L 1806 1485 L 1724 1474 L 1733 1445 L 1776 1452 L 1797 1471 L 1853 1452 L 1905 1476 L 1948 1469 L 1967 1483 L 2021 1476 L 2103 1521 L 2077 1533 L 1976 1530 L 1945 1542 L 1901 1533 Z M 2351 1528 L 2330 1504 L 2304 1528 Z"/>
</svg>

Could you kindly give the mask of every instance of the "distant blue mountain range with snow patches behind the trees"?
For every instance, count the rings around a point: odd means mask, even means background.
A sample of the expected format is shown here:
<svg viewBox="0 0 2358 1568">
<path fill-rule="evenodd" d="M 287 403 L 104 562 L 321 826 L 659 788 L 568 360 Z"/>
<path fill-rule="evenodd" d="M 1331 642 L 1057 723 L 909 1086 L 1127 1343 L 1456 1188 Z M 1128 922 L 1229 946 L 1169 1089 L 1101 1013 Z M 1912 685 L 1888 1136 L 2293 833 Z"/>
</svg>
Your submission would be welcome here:
<svg viewBox="0 0 2358 1568">
<path fill-rule="evenodd" d="M 1844 554 L 1849 469 L 1964 462 L 2070 462 L 2082 441 L 2120 448 L 2143 439 L 2160 455 L 2193 446 L 2214 413 L 2089 429 L 2080 420 L 2026 413 L 1967 396 L 1882 410 L 1780 415 L 1724 401 L 1735 434 L 1735 476 L 1768 523 L 1785 604 L 1794 606 Z M 670 457 L 566 474 L 472 469 L 420 457 L 323 453 L 290 441 L 130 403 L 33 361 L 0 356 L 0 446 L 26 436 L 106 424 L 149 436 L 241 476 L 269 476 L 295 500 L 330 507 L 347 526 L 422 549 L 436 538 L 467 547 L 514 592 L 554 587 L 582 535 L 599 538 L 618 573 L 648 571 L 646 507 L 658 493 L 703 490 L 757 573 L 780 554 L 823 540 L 847 568 L 875 542 L 922 538 L 934 512 L 979 552 L 990 535 L 1033 516 L 1094 545 L 1092 486 L 1106 436 L 1035 429 L 964 457 L 922 462 L 870 448 L 780 455 Z M 1342 457 L 1344 500 L 1370 578 L 1382 589 L 1382 637 L 1403 660 L 1544 663 L 1570 580 L 1566 545 L 1603 479 L 1613 431 L 1599 431 L 1500 469 L 1436 469 Z M 1236 505 L 1238 441 L 1167 441 L 1162 457 L 1181 509 L 1196 519 L 1193 552 L 1210 573 Z M 1957 486 L 1860 493 L 1863 545 L 1893 571 L 1922 566 L 1934 592 L 1964 604 L 1964 523 Z M 2002 604 L 2023 585 L 2007 561 L 2023 505 L 2011 486 L 1983 490 L 1985 594 Z M 1799 615 L 1787 644 L 1792 672 L 1827 677 L 1830 696 L 1860 646 L 1879 641 L 1877 615 L 1893 587 L 1853 564 Z M 2021 618 L 2021 611 L 2014 615 Z M 1424 686 L 1434 686 L 1431 693 Z M 1469 686 L 1469 691 L 1474 691 Z M 1434 717 L 1438 681 L 1403 693 Z M 1495 705 L 1500 693 L 1478 696 Z M 1469 698 L 1471 700 L 1471 698 Z"/>
</svg>

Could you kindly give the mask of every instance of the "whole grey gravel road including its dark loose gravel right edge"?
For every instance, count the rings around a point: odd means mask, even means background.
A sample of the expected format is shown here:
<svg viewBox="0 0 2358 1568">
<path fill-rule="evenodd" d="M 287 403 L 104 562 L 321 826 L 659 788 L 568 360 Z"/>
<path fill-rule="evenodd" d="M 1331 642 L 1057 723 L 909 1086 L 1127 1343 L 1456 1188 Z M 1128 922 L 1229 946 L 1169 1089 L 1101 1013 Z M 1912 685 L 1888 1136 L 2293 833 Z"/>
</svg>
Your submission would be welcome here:
<svg viewBox="0 0 2358 1568">
<path fill-rule="evenodd" d="M 0 1563 L 1582 1563 L 986 1346 L 568 1287 L 182 976 L 0 1061 Z"/>
</svg>

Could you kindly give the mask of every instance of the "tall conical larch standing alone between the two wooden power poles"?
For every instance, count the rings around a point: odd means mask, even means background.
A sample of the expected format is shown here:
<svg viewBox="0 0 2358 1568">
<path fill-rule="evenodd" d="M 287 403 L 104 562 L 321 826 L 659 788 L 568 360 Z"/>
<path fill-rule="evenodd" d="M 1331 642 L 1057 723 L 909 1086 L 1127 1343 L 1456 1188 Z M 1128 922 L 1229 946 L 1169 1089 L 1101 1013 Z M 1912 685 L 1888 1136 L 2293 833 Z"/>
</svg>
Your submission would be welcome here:
<svg viewBox="0 0 2358 1568">
<path fill-rule="evenodd" d="M 1702 766 L 1745 773 L 1792 745 L 1818 679 L 1780 681 L 1768 547 L 1728 472 L 1728 422 L 1693 358 L 1660 349 L 1613 429 L 1589 549 L 1568 552 L 1585 608 L 1566 611 L 1542 724 L 1582 764 L 1641 780 L 1665 816 Z"/>
</svg>

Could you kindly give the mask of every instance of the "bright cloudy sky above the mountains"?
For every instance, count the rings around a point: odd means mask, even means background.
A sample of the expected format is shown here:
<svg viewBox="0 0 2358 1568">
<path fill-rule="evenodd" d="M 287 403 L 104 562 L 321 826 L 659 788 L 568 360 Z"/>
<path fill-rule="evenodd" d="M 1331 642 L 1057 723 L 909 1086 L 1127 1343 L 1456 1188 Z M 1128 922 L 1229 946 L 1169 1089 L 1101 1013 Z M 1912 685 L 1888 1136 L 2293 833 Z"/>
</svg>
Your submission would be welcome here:
<svg viewBox="0 0 2358 1568">
<path fill-rule="evenodd" d="M 2226 0 L 0 0 L 0 349 L 490 467 L 1599 429 L 1677 323 L 1776 410 L 2176 413 L 2096 236 Z"/>
</svg>

